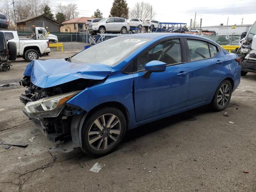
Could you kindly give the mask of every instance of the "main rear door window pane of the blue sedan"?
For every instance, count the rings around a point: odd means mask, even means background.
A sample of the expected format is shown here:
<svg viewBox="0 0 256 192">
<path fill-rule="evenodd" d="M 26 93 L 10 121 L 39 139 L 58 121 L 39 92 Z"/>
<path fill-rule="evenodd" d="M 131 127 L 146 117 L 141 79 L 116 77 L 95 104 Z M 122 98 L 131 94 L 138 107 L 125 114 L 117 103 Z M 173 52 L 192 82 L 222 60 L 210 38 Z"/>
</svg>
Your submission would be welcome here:
<svg viewBox="0 0 256 192">
<path fill-rule="evenodd" d="M 208 43 L 200 40 L 187 40 L 191 61 L 210 58 Z"/>
</svg>

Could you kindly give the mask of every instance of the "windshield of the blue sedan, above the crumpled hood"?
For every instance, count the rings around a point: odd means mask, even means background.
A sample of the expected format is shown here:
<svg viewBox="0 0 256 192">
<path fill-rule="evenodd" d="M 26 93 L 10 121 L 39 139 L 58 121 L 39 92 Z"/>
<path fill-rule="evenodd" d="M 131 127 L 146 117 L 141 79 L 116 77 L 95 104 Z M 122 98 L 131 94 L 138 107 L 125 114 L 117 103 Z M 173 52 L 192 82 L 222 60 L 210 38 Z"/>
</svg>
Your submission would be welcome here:
<svg viewBox="0 0 256 192">
<path fill-rule="evenodd" d="M 71 62 L 114 66 L 150 40 L 152 39 L 121 36 L 111 38 L 74 55 Z"/>
</svg>

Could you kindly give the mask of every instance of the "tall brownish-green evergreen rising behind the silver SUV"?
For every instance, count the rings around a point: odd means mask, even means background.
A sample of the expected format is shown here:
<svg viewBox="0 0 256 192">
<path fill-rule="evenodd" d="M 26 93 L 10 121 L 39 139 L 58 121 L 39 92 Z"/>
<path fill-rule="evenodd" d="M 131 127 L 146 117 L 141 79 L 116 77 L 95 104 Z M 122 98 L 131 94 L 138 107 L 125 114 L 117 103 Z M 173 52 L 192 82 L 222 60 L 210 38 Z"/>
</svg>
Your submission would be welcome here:
<svg viewBox="0 0 256 192">
<path fill-rule="evenodd" d="M 122 17 L 128 18 L 128 4 L 126 0 L 114 0 L 112 8 L 110 10 L 110 17 Z"/>
</svg>

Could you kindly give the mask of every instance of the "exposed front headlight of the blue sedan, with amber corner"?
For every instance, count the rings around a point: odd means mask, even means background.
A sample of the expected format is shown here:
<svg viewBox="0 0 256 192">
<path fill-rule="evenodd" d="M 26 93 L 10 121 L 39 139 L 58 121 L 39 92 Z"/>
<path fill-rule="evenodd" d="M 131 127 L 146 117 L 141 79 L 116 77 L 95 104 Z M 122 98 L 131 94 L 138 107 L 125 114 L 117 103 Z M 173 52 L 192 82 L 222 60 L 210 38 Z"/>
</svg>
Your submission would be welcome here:
<svg viewBox="0 0 256 192">
<path fill-rule="evenodd" d="M 57 117 L 64 108 L 64 104 L 79 92 L 75 91 L 28 102 L 25 106 L 26 113 L 31 118 Z"/>
</svg>

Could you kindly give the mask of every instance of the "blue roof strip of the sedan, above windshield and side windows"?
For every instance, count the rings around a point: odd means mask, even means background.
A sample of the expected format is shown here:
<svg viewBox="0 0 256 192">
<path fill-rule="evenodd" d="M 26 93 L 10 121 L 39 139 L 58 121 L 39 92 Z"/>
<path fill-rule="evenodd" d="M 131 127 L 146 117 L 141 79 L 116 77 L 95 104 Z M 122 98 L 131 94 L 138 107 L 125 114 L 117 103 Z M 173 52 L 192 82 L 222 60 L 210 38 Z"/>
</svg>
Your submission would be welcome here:
<svg viewBox="0 0 256 192">
<path fill-rule="evenodd" d="M 145 37 L 145 38 L 153 38 L 153 39 L 162 39 L 162 38 L 166 38 L 166 37 L 191 37 L 191 38 L 198 38 L 198 39 L 204 39 L 204 40 L 208 40 L 210 42 L 213 42 L 214 44 L 216 44 L 216 42 L 202 37 L 202 36 L 198 36 L 198 35 L 192 35 L 192 34 L 184 34 L 184 33 L 137 33 L 137 34 L 127 34 L 124 35 L 127 37 Z"/>
</svg>

